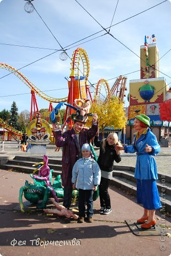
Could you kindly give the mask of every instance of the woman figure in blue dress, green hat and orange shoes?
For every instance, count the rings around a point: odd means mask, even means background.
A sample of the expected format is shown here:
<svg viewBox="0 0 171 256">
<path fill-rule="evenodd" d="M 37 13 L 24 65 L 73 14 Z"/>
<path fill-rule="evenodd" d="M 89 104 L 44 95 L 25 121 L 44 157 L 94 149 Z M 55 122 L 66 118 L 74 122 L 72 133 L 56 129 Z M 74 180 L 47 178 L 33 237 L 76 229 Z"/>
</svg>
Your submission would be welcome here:
<svg viewBox="0 0 171 256">
<path fill-rule="evenodd" d="M 160 197 L 157 188 L 157 165 L 154 159 L 160 151 L 156 136 L 149 129 L 150 118 L 144 114 L 135 116 L 134 129 L 137 131 L 131 146 L 118 146 L 118 150 L 125 150 L 125 153 L 137 154 L 135 175 L 137 179 L 137 203 L 143 204 L 144 213 L 137 220 L 142 223 L 141 227 L 148 229 L 156 225 L 154 215 L 156 209 L 161 207 Z M 146 222 L 145 222 L 146 221 Z"/>
</svg>

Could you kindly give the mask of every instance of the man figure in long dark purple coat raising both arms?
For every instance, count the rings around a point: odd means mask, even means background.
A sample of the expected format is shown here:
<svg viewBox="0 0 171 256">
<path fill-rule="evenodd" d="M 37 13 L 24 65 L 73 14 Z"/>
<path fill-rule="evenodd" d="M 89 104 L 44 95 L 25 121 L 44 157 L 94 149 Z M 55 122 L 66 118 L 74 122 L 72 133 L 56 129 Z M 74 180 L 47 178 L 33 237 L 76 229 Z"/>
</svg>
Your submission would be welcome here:
<svg viewBox="0 0 171 256">
<path fill-rule="evenodd" d="M 56 147 L 62 147 L 62 186 L 64 187 L 63 206 L 69 209 L 72 200 L 72 168 L 79 158 L 82 158 L 82 146 L 88 143 L 97 133 L 99 123 L 97 115 L 93 114 L 92 127 L 84 128 L 85 121 L 82 116 L 74 119 L 74 127 L 62 134 L 59 126 L 53 124 Z"/>
</svg>

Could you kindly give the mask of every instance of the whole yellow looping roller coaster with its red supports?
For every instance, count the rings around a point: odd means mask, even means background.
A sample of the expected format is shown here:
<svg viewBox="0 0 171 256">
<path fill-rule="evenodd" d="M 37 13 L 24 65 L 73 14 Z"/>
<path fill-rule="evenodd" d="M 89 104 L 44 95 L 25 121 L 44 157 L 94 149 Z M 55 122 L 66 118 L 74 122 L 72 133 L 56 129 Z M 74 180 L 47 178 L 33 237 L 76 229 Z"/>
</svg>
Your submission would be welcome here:
<svg viewBox="0 0 171 256">
<path fill-rule="evenodd" d="M 6 69 L 10 71 L 12 74 L 17 76 L 23 83 L 25 83 L 29 89 L 31 90 L 31 109 L 30 109 L 30 121 L 32 120 L 32 113 L 34 113 L 34 118 L 36 118 L 36 113 L 39 112 L 36 94 L 43 98 L 44 100 L 49 102 L 48 111 L 51 112 L 53 110 L 52 103 L 59 103 L 59 102 L 67 102 L 70 105 L 74 105 L 75 99 L 89 99 L 93 102 L 93 97 L 91 94 L 90 86 L 87 84 L 88 76 L 89 76 L 89 60 L 86 51 L 80 47 L 78 47 L 74 53 L 72 54 L 72 62 L 71 62 L 71 74 L 70 74 L 70 81 L 68 81 L 68 97 L 57 99 L 52 98 L 38 89 L 33 83 L 29 81 L 29 79 L 24 76 L 19 70 L 13 68 L 10 65 L 5 63 L 0 63 L 0 68 Z M 82 71 L 80 70 L 82 69 Z M 102 86 L 105 89 L 106 98 L 105 101 L 110 99 L 113 95 L 120 98 L 121 101 L 124 101 L 125 91 L 126 89 L 126 77 L 119 76 L 116 79 L 116 82 L 113 84 L 111 90 L 109 88 L 109 84 L 105 79 L 100 79 L 95 87 L 95 94 L 94 99 L 96 101 L 100 100 L 101 98 L 101 88 Z M 67 119 L 67 116 L 74 113 L 74 109 L 66 107 L 66 114 L 64 119 Z M 72 122 L 72 121 L 70 121 Z M 4 127 L 4 121 L 0 119 L 0 124 Z M 70 123 L 72 125 L 72 123 Z M 9 130 L 8 125 L 5 124 L 5 129 Z M 21 137 L 21 132 L 10 128 L 11 133 L 14 135 L 18 135 Z"/>
</svg>

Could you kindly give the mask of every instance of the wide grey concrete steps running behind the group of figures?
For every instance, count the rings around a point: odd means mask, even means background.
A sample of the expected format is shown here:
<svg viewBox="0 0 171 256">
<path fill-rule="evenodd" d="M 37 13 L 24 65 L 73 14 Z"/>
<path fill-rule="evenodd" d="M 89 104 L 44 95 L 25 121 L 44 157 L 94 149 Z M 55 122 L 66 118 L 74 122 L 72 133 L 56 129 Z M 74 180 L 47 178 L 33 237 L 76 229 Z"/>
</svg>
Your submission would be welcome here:
<svg viewBox="0 0 171 256">
<path fill-rule="evenodd" d="M 15 156 L 11 159 L 4 159 L 4 162 L 1 161 L 0 168 L 16 172 L 32 173 L 35 170 L 35 167 L 32 167 L 32 165 L 42 161 L 42 157 Z M 61 159 L 49 158 L 48 166 L 54 170 L 53 177 L 61 174 Z M 136 196 L 135 167 L 115 165 L 113 169 L 111 184 Z M 157 186 L 161 202 L 165 205 L 165 210 L 171 212 L 171 177 L 163 174 L 158 174 L 158 176 Z"/>
</svg>

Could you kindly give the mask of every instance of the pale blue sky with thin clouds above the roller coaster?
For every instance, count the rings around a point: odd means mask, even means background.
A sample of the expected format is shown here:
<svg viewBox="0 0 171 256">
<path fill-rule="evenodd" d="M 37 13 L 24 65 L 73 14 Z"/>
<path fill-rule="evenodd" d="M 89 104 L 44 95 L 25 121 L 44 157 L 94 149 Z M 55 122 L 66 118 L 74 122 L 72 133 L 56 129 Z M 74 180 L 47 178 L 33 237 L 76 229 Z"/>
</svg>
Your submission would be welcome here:
<svg viewBox="0 0 171 256">
<path fill-rule="evenodd" d="M 95 86 L 103 78 L 111 88 L 117 77 L 126 76 L 127 95 L 129 81 L 140 79 L 140 46 L 144 45 L 145 35 L 149 36 L 149 44 L 155 35 L 161 58 L 160 77 L 171 83 L 169 0 L 34 0 L 32 13 L 25 11 L 26 3 L 0 0 L 0 62 L 20 69 L 48 96 L 68 97 L 64 77 L 70 76 L 72 54 L 78 47 L 88 55 L 88 84 Z M 111 35 L 104 29 L 110 29 Z M 59 57 L 62 49 L 70 57 L 65 61 Z M 13 101 L 19 113 L 30 111 L 29 87 L 4 68 L 0 68 L 0 87 L 0 111 L 10 110 Z M 101 93 L 105 94 L 103 88 Z M 38 95 L 36 99 L 39 109 L 48 108 L 48 101 Z"/>
</svg>

